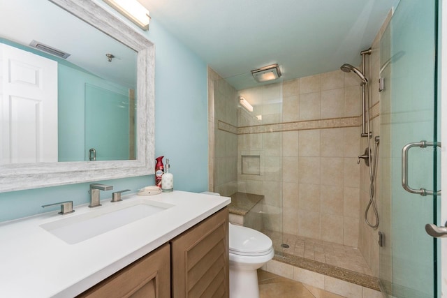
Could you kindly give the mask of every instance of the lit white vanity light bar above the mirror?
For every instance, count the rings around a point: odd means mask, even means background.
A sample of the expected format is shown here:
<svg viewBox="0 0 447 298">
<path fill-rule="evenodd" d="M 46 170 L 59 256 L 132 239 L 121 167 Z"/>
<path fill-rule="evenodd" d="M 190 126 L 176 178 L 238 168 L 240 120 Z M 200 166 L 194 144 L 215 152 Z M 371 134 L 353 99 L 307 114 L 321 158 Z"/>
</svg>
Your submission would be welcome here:
<svg viewBox="0 0 447 298">
<path fill-rule="evenodd" d="M 103 0 L 141 29 L 149 30 L 149 10 L 137 0 Z"/>
</svg>

